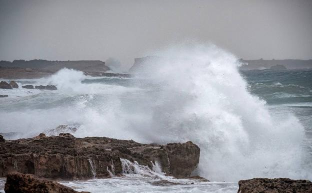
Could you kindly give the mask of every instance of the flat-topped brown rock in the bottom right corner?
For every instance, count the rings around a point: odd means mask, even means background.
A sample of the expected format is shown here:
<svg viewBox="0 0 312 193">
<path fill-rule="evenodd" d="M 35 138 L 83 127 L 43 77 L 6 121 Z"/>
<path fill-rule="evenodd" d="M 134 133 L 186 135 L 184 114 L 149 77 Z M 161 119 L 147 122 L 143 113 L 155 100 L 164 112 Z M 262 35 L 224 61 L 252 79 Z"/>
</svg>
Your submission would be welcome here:
<svg viewBox="0 0 312 193">
<path fill-rule="evenodd" d="M 293 180 L 289 178 L 253 178 L 238 181 L 237 193 L 280 193 L 312 192 L 312 182 L 308 180 Z"/>
</svg>

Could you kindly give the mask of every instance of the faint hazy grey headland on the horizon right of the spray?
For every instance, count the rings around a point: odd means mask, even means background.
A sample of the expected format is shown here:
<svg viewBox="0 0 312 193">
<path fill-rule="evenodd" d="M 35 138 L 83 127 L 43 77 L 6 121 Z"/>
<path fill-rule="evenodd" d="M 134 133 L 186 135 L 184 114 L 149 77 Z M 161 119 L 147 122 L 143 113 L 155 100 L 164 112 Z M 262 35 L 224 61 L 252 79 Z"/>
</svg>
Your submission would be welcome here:
<svg viewBox="0 0 312 193">
<path fill-rule="evenodd" d="M 283 66 L 283 69 L 306 69 L 312 68 L 312 60 L 239 60 L 243 65 L 241 70 L 263 70 L 270 69 L 271 67 Z"/>
</svg>

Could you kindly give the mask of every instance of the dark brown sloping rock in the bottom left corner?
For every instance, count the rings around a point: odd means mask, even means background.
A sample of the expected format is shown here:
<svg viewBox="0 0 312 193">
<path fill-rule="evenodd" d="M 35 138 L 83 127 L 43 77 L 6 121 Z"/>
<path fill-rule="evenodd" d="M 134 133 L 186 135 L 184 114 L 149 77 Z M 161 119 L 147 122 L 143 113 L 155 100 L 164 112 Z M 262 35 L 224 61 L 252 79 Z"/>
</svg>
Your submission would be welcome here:
<svg viewBox="0 0 312 193">
<path fill-rule="evenodd" d="M 57 183 L 39 179 L 32 174 L 10 173 L 6 176 L 4 185 L 5 193 L 75 193 L 78 191 L 70 187 Z M 87 193 L 81 191 L 81 193 Z"/>
</svg>

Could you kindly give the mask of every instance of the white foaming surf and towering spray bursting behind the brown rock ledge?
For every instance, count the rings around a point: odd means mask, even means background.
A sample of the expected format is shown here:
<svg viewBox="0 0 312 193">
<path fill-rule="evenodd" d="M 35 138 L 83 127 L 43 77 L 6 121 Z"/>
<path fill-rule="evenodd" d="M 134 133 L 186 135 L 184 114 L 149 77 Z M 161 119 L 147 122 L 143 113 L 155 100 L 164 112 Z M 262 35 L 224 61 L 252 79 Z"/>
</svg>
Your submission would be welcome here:
<svg viewBox="0 0 312 193">
<path fill-rule="evenodd" d="M 138 75 L 131 87 L 81 83 L 89 77 L 68 69 L 36 80 L 58 90 L 1 99 L 8 104 L 0 111 L 0 131 L 34 135 L 77 123 L 77 137 L 191 140 L 200 147 L 196 174 L 210 180 L 312 179 L 310 165 L 302 165 L 302 125 L 290 113 L 270 113 L 248 92 L 233 55 L 203 46 L 157 55 L 163 60 L 145 64 L 147 76 Z"/>
</svg>

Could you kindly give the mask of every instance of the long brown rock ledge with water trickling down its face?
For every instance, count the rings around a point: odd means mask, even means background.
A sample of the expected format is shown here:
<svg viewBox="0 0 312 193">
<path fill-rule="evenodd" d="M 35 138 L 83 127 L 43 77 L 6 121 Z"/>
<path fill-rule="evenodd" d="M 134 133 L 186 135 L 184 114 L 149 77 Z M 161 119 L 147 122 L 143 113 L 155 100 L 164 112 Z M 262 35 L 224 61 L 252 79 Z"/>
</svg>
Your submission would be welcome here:
<svg viewBox="0 0 312 193">
<path fill-rule="evenodd" d="M 140 144 L 107 137 L 75 138 L 71 134 L 6 140 L 0 145 L 0 176 L 17 171 L 61 179 L 107 178 L 122 174 L 120 158 L 176 177 L 190 176 L 199 161 L 192 142 Z"/>
</svg>

